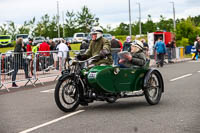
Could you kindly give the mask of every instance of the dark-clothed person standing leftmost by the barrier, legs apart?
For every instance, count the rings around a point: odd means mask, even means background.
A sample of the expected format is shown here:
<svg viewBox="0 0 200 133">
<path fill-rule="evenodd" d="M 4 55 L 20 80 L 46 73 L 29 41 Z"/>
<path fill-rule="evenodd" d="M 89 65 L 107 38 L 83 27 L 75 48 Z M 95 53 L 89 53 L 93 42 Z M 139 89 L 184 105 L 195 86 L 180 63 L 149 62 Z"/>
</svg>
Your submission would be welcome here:
<svg viewBox="0 0 200 133">
<path fill-rule="evenodd" d="M 15 80 L 16 80 L 16 75 L 17 75 L 20 65 L 23 65 L 25 78 L 30 78 L 28 75 L 28 65 L 25 62 L 25 59 L 23 59 L 23 52 L 26 52 L 26 49 L 24 47 L 22 38 L 17 39 L 14 52 L 15 52 L 14 53 L 14 72 L 12 75 L 12 87 L 18 87 L 15 83 Z"/>
</svg>

